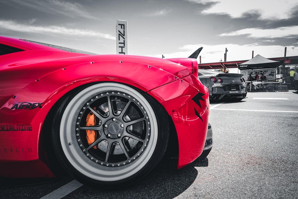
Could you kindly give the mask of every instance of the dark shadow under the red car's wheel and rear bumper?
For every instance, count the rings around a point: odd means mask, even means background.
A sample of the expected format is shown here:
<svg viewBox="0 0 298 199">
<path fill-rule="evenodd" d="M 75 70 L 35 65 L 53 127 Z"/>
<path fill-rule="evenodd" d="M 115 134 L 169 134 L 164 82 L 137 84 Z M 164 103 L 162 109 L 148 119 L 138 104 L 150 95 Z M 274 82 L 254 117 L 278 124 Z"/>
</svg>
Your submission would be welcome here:
<svg viewBox="0 0 298 199">
<path fill-rule="evenodd" d="M 92 195 L 108 195 L 109 198 L 175 198 L 188 189 L 198 176 L 195 167 L 208 166 L 208 159 L 195 160 L 189 165 L 177 169 L 178 160 L 164 158 L 151 172 L 136 185 L 126 188 L 111 187 L 103 190 L 82 186 L 68 197 L 92 192 Z M 92 189 L 92 190 L 90 190 Z M 90 196 L 92 196 L 90 195 Z"/>
</svg>

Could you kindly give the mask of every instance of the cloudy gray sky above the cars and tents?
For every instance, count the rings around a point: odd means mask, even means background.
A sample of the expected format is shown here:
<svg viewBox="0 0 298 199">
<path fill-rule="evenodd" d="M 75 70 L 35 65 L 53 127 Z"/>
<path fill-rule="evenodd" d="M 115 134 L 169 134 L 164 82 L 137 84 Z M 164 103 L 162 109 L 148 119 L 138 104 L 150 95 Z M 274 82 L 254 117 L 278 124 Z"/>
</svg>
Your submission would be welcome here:
<svg viewBox="0 0 298 199">
<path fill-rule="evenodd" d="M 98 54 L 116 54 L 117 20 L 128 21 L 131 55 L 298 55 L 297 0 L 0 0 L 0 35 Z"/>
</svg>

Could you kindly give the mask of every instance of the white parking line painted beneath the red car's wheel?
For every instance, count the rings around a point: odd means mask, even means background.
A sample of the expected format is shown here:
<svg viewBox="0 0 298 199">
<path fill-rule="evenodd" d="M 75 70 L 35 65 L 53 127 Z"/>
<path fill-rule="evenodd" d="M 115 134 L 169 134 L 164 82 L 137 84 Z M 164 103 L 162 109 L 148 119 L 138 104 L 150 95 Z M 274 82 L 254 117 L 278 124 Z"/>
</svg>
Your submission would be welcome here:
<svg viewBox="0 0 298 199">
<path fill-rule="evenodd" d="M 56 189 L 55 191 L 49 193 L 48 195 L 45 195 L 41 199 L 60 199 L 66 196 L 67 194 L 75 191 L 77 188 L 81 187 L 83 184 L 79 183 L 76 180 L 73 180 L 69 183 L 67 183 L 64 186 L 61 186 L 59 189 Z"/>
</svg>

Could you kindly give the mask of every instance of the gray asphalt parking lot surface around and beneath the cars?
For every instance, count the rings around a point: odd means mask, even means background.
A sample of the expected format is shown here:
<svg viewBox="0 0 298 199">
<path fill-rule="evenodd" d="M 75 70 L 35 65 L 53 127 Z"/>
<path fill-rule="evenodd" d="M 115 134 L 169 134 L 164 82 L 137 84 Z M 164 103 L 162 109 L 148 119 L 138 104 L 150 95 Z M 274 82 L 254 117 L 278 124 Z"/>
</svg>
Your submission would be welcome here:
<svg viewBox="0 0 298 199">
<path fill-rule="evenodd" d="M 298 94 L 291 91 L 211 103 L 214 145 L 204 161 L 177 170 L 177 160 L 164 159 L 128 189 L 79 186 L 64 198 L 298 198 Z M 2 188 L 0 198 L 42 198 L 69 182 L 65 175 Z"/>
</svg>

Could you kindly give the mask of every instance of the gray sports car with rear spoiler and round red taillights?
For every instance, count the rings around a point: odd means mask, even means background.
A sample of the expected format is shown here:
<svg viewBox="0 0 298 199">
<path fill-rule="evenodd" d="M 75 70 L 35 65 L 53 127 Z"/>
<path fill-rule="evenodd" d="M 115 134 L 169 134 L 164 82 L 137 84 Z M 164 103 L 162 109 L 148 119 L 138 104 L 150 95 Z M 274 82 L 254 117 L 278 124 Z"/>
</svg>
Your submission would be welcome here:
<svg viewBox="0 0 298 199">
<path fill-rule="evenodd" d="M 198 79 L 209 89 L 210 101 L 233 99 L 240 101 L 246 97 L 247 88 L 243 74 L 198 70 Z"/>
</svg>

